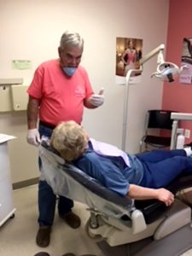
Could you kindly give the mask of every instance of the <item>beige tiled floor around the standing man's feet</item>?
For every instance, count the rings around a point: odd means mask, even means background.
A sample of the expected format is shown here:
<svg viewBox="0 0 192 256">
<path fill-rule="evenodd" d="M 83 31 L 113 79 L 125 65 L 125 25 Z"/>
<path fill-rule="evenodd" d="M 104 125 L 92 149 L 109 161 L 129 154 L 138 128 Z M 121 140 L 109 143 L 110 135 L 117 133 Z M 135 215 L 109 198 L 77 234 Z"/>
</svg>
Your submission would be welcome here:
<svg viewBox="0 0 192 256">
<path fill-rule="evenodd" d="M 47 252 L 50 256 L 61 256 L 68 252 L 75 253 L 77 256 L 85 253 L 104 256 L 95 242 L 85 234 L 84 224 L 89 218 L 89 213 L 86 211 L 86 207 L 80 203 L 75 203 L 74 207 L 74 212 L 78 213 L 82 220 L 79 230 L 72 230 L 55 215 L 50 245 L 44 249 L 39 248 L 35 243 L 35 236 L 38 230 L 37 195 L 37 185 L 14 191 L 17 210 L 15 218 L 9 219 L 0 228 L 1 256 L 33 256 L 39 251 Z M 192 250 L 184 253 L 183 256 L 192 256 Z"/>
</svg>

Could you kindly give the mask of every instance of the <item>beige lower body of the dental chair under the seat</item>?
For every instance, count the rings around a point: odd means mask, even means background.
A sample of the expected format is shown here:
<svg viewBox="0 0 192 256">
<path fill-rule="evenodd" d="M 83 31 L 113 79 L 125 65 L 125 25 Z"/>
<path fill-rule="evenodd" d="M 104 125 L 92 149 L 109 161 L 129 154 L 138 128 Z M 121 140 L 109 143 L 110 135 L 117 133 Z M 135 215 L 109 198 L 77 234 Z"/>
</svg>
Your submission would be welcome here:
<svg viewBox="0 0 192 256">
<path fill-rule="evenodd" d="M 98 225 L 96 227 L 91 226 L 90 218 L 87 222 L 88 225 L 86 225 L 88 227 L 87 234 L 91 238 L 102 237 L 110 247 L 137 243 L 138 241 L 144 241 L 148 237 L 153 237 L 153 240 L 160 241 L 187 224 L 191 224 L 191 208 L 176 199 L 172 206 L 167 208 L 166 212 L 163 211 L 158 219 L 148 223 L 145 227 L 143 227 L 143 222 L 138 217 L 139 215 L 135 215 L 135 212 L 131 214 L 131 221 L 97 216 Z M 143 227 L 143 229 L 136 229 L 136 224 Z"/>
</svg>

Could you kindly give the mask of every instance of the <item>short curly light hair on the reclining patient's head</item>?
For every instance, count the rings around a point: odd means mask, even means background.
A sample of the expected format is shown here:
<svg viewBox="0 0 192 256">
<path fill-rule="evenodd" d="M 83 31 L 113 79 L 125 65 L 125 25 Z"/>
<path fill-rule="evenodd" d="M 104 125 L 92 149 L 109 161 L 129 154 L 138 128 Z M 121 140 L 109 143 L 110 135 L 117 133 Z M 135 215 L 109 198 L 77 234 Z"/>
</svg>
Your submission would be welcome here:
<svg viewBox="0 0 192 256">
<path fill-rule="evenodd" d="M 64 160 L 76 160 L 87 147 L 86 134 L 74 121 L 61 122 L 55 127 L 50 137 L 50 144 Z"/>
</svg>

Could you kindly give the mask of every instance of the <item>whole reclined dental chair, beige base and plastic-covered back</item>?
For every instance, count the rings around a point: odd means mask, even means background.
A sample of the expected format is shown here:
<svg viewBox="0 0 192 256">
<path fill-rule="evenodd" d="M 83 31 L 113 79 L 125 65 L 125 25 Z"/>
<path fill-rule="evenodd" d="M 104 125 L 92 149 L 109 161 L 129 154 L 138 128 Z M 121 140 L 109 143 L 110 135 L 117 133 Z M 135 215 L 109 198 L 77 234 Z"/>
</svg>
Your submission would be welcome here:
<svg viewBox="0 0 192 256">
<path fill-rule="evenodd" d="M 191 206 L 176 198 L 171 207 L 160 201 L 133 201 L 102 186 L 65 161 L 44 140 L 39 146 L 41 180 L 55 195 L 86 204 L 87 235 L 106 256 L 177 256 L 192 247 Z M 177 196 L 192 176 L 178 177 L 167 189 Z"/>
</svg>

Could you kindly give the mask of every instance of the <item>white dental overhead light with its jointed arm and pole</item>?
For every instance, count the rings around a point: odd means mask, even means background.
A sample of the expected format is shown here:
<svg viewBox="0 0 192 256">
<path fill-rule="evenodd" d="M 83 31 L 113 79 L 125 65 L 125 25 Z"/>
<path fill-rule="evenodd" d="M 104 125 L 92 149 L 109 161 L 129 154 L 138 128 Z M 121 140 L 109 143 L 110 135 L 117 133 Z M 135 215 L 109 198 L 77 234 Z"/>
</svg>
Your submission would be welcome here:
<svg viewBox="0 0 192 256">
<path fill-rule="evenodd" d="M 157 68 L 151 77 L 161 79 L 166 82 L 173 82 L 179 73 L 183 71 L 183 68 L 187 68 L 186 65 L 177 67 L 176 64 L 172 62 L 164 61 L 163 50 L 165 49 L 165 44 L 160 44 L 157 48 L 150 51 L 142 59 L 139 60 L 139 69 L 130 69 L 125 76 L 125 99 L 124 99 L 124 116 L 123 116 L 123 133 L 122 133 L 122 149 L 125 151 L 126 142 L 126 131 L 127 131 L 127 107 L 128 107 L 128 97 L 129 97 L 129 84 L 131 73 L 143 73 L 143 64 L 149 61 L 154 55 L 157 55 Z"/>
</svg>

